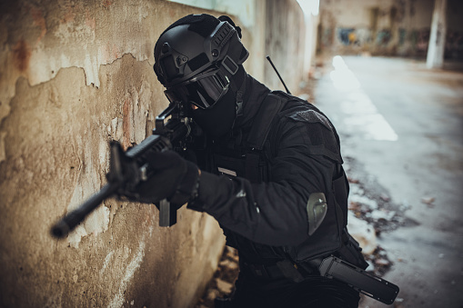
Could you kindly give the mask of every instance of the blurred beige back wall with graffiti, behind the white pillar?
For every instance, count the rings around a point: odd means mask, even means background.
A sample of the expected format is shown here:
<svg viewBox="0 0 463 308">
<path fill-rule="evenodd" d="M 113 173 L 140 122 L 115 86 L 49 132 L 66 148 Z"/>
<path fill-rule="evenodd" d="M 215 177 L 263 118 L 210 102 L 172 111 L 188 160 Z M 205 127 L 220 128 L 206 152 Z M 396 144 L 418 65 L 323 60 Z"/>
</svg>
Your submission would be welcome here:
<svg viewBox="0 0 463 308">
<path fill-rule="evenodd" d="M 463 59 L 463 3 L 448 6 L 446 57 Z M 425 57 L 433 8 L 434 0 L 322 0 L 318 51 Z"/>
</svg>

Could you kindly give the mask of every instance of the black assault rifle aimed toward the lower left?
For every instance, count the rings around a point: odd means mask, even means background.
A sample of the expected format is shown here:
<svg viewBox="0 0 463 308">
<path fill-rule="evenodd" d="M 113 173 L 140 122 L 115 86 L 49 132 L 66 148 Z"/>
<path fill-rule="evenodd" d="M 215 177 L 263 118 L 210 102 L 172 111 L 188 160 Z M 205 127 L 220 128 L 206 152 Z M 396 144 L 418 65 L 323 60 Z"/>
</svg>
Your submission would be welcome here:
<svg viewBox="0 0 463 308">
<path fill-rule="evenodd" d="M 107 184 L 84 204 L 66 214 L 53 225 L 51 233 L 63 238 L 80 224 L 88 214 L 96 209 L 106 198 L 113 195 L 136 199 L 135 187 L 153 176 L 153 170 L 146 163 L 146 157 L 155 152 L 180 150 L 185 148 L 187 137 L 191 133 L 191 119 L 186 116 L 185 106 L 179 102 L 171 103 L 156 116 L 156 128 L 153 134 L 126 152 L 117 141 L 110 143 L 110 166 L 106 174 Z M 156 204 L 159 209 L 159 225 L 176 224 L 176 210 L 169 202 L 161 200 Z"/>
</svg>

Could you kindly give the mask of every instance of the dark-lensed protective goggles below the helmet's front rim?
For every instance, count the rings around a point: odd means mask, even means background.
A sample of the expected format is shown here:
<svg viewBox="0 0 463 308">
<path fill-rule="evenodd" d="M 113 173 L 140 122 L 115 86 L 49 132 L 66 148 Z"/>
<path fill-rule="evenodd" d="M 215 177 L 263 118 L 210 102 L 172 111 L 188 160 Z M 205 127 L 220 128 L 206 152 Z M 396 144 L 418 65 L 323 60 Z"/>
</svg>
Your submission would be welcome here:
<svg viewBox="0 0 463 308">
<path fill-rule="evenodd" d="M 228 91 L 230 80 L 220 69 L 206 71 L 183 83 L 169 87 L 164 93 L 170 102 L 195 104 L 198 108 L 212 107 Z"/>
</svg>

